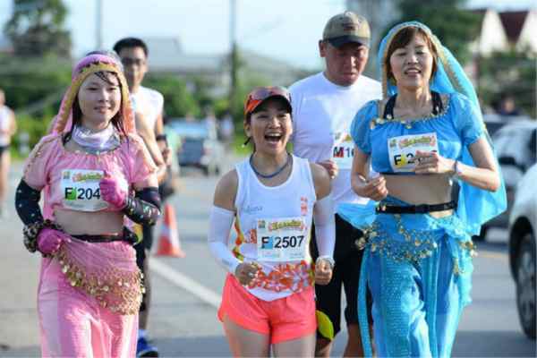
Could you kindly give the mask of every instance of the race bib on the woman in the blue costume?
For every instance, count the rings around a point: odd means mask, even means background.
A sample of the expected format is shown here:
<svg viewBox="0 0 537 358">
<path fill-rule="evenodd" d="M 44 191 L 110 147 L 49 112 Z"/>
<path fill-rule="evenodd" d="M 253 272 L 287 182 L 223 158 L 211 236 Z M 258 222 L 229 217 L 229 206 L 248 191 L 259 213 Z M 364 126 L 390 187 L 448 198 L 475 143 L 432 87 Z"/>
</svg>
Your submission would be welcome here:
<svg viewBox="0 0 537 358">
<path fill-rule="evenodd" d="M 388 139 L 389 164 L 394 172 L 412 172 L 416 151 L 439 151 L 435 132 L 402 135 Z"/>
</svg>

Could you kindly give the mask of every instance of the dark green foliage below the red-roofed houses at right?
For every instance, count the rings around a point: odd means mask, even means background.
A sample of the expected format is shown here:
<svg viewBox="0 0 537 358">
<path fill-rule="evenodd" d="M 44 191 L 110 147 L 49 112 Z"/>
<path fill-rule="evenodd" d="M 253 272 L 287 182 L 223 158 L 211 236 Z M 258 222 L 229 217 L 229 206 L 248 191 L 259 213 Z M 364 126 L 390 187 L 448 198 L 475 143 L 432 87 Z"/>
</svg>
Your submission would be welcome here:
<svg viewBox="0 0 537 358">
<path fill-rule="evenodd" d="M 497 52 L 479 59 L 478 84 L 482 103 L 496 107 L 502 94 L 515 99 L 525 115 L 537 118 L 535 57 L 527 53 Z"/>
</svg>

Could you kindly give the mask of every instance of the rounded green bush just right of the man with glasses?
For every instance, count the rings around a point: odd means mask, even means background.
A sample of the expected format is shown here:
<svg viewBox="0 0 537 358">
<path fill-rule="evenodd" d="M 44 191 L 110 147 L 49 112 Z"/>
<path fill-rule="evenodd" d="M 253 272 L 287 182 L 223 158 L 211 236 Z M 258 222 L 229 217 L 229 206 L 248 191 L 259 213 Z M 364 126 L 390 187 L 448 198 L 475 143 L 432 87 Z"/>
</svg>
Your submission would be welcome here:
<svg viewBox="0 0 537 358">
<path fill-rule="evenodd" d="M 148 74 L 143 84 L 162 93 L 167 117 L 200 115 L 200 104 L 186 88 L 184 81 L 172 76 Z"/>
</svg>

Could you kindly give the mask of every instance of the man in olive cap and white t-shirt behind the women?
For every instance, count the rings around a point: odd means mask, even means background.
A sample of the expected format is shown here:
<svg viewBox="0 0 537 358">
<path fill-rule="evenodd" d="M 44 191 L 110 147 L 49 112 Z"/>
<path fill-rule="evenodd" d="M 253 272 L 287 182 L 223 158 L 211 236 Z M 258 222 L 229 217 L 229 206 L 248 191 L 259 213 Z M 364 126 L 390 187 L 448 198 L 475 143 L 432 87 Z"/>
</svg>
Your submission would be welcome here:
<svg viewBox="0 0 537 358">
<path fill-rule="evenodd" d="M 345 320 L 348 341 L 345 356 L 363 356 L 357 317 L 358 278 L 362 251 L 355 245 L 362 233 L 337 213 L 345 206 L 364 203 L 351 188 L 354 143 L 350 127 L 354 115 L 371 99 L 381 98 L 379 81 L 362 75 L 369 56 L 371 31 L 368 22 L 352 12 L 337 14 L 325 26 L 319 41 L 326 70 L 295 82 L 291 88 L 294 154 L 324 166 L 332 177 L 336 210 L 336 265 L 328 286 L 316 286 L 317 310 L 328 316 L 334 335 L 340 329 L 341 292 L 345 288 Z M 312 235 L 314 232 L 312 230 Z M 311 255 L 318 255 L 311 239 Z M 326 322 L 326 320 L 325 320 Z M 320 320 L 320 326 L 323 321 Z M 330 354 L 333 337 L 318 331 L 316 355 Z"/>
</svg>

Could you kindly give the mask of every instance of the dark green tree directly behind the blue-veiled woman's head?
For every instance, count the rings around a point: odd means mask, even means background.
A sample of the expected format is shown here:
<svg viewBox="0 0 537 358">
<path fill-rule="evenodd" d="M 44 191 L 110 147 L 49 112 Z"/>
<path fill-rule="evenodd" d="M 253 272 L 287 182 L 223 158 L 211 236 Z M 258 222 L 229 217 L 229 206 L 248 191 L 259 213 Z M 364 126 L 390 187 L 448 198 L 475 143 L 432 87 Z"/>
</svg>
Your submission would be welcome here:
<svg viewBox="0 0 537 358">
<path fill-rule="evenodd" d="M 426 24 L 442 44 L 464 64 L 471 59 L 468 44 L 479 34 L 481 15 L 464 9 L 466 0 L 396 0 L 399 18 L 402 21 L 417 20 Z"/>
</svg>

